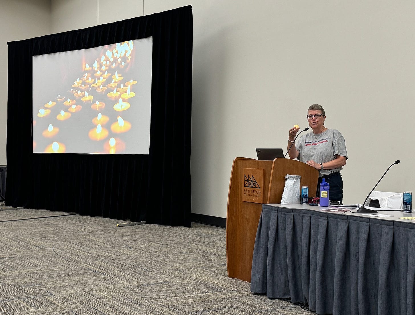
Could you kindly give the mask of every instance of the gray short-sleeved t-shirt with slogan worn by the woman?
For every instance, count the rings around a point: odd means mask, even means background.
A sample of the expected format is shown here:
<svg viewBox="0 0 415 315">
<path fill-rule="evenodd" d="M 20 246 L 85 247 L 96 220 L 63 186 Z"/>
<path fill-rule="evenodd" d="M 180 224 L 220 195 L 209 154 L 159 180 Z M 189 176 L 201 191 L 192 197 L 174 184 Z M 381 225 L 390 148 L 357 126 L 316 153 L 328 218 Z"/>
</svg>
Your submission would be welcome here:
<svg viewBox="0 0 415 315">
<path fill-rule="evenodd" d="M 325 163 L 335 159 L 334 155 L 346 156 L 346 143 L 342 134 L 336 129 L 327 129 L 321 134 L 313 134 L 311 131 L 308 134 L 301 135 L 300 139 L 295 142 L 295 149 L 300 155 L 297 159 L 306 163 L 313 160 L 316 163 Z M 320 177 L 329 175 L 330 173 L 338 172 L 343 168 L 323 169 L 319 170 Z"/>
</svg>

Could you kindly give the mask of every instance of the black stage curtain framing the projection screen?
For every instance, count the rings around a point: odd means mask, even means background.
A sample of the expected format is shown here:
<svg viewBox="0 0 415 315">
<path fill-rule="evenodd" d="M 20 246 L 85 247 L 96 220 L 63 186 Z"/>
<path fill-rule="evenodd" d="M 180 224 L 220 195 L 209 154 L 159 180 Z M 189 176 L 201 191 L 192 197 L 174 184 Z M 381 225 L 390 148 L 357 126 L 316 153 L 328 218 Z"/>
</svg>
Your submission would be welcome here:
<svg viewBox="0 0 415 315">
<path fill-rule="evenodd" d="M 149 36 L 149 155 L 33 154 L 32 56 Z M 191 6 L 8 46 L 6 205 L 190 226 Z"/>
</svg>

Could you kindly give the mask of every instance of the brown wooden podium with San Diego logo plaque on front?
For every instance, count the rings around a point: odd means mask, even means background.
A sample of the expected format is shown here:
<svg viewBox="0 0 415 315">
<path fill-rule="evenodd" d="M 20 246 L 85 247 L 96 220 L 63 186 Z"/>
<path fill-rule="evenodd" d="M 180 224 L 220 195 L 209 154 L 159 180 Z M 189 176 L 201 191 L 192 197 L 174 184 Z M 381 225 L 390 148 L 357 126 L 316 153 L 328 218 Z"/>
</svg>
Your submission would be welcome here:
<svg viewBox="0 0 415 315">
<path fill-rule="evenodd" d="M 258 161 L 237 157 L 232 164 L 226 220 L 229 278 L 251 282 L 252 254 L 263 203 L 281 203 L 285 176 L 301 175 L 300 186 L 315 195 L 319 172 L 291 159 Z"/>
</svg>

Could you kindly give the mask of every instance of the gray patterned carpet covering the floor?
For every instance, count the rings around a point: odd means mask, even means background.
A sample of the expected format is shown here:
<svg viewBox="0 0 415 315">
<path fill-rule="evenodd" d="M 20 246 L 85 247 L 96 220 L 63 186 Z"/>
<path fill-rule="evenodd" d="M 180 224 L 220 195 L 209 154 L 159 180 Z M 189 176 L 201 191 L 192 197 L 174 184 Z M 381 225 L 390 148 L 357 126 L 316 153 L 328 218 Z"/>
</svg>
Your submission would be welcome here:
<svg viewBox="0 0 415 315">
<path fill-rule="evenodd" d="M 0 315 L 312 314 L 228 278 L 223 228 L 0 210 Z"/>
</svg>

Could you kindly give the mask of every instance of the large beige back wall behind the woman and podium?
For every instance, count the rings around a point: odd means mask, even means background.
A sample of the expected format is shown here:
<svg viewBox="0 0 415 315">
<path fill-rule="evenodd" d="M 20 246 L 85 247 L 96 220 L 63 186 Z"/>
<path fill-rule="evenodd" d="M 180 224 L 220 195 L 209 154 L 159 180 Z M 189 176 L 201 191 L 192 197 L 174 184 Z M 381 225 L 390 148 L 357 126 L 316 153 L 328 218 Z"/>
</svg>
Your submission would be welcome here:
<svg viewBox="0 0 415 315">
<path fill-rule="evenodd" d="M 415 192 L 412 0 L 127 3 L 128 10 L 114 10 L 107 0 L 52 0 L 50 32 L 192 4 L 194 213 L 226 217 L 234 157 L 285 148 L 289 128 L 307 127 L 312 103 L 325 107 L 326 127 L 346 139 L 346 203 L 363 202 L 396 159 L 377 189 Z"/>
</svg>

